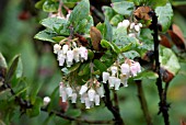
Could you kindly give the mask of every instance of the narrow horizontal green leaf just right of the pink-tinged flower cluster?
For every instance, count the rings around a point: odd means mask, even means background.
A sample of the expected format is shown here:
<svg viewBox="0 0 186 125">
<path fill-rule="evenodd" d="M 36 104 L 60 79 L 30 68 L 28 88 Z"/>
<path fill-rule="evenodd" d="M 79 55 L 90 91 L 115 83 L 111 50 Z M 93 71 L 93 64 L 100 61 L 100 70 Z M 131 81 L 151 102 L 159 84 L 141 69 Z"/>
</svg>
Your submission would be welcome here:
<svg viewBox="0 0 186 125">
<path fill-rule="evenodd" d="M 158 73 L 153 72 L 153 71 L 142 71 L 140 73 L 138 73 L 137 77 L 133 78 L 133 80 L 142 80 L 142 79 L 156 79 L 159 77 Z"/>
</svg>

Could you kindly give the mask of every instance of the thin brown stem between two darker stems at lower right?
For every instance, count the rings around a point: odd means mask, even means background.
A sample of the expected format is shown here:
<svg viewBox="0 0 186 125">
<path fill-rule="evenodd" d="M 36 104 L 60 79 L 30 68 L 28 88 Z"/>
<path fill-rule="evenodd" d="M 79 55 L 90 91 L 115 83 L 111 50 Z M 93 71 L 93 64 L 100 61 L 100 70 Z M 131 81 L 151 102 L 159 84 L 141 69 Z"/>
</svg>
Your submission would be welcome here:
<svg viewBox="0 0 186 125">
<path fill-rule="evenodd" d="M 141 80 L 137 80 L 136 84 L 137 84 L 137 88 L 138 88 L 138 98 L 139 98 L 140 104 L 141 104 L 141 110 L 143 112 L 147 125 L 153 125 L 152 120 L 151 120 L 151 115 L 150 115 L 149 110 L 148 110 L 148 104 L 147 104 L 147 101 L 146 101 Z"/>
</svg>

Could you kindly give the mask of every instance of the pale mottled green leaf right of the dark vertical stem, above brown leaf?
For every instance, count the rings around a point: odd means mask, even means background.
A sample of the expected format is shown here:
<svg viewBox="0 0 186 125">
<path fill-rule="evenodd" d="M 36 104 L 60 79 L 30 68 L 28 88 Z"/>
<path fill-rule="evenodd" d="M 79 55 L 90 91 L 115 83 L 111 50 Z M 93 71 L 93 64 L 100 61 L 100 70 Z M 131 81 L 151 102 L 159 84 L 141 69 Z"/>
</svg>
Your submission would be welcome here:
<svg viewBox="0 0 186 125">
<path fill-rule="evenodd" d="M 178 70 L 181 69 L 178 59 L 176 55 L 171 50 L 170 48 L 165 48 L 161 46 L 160 49 L 160 63 L 161 67 L 168 70 L 173 75 L 176 75 Z"/>
</svg>

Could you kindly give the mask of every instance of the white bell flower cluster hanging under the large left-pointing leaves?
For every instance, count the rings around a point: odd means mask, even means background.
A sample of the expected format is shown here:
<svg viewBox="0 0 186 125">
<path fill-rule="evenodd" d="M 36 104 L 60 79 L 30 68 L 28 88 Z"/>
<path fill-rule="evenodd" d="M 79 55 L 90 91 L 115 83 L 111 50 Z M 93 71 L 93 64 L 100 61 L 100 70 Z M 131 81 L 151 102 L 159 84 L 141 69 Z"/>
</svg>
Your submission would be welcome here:
<svg viewBox="0 0 186 125">
<path fill-rule="evenodd" d="M 67 67 L 71 67 L 73 61 L 79 63 L 81 60 L 83 63 L 88 60 L 88 49 L 83 46 L 70 49 L 70 46 L 67 44 L 62 46 L 55 44 L 54 53 L 57 54 L 59 66 L 63 66 L 66 61 Z"/>
</svg>

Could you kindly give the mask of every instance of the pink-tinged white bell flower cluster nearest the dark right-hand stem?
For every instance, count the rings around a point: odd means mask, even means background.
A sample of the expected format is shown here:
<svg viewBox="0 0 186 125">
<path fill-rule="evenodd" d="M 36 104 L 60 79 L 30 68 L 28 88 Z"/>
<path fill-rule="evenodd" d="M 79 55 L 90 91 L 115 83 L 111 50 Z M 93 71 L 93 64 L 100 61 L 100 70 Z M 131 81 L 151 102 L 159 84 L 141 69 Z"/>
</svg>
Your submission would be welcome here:
<svg viewBox="0 0 186 125">
<path fill-rule="evenodd" d="M 108 70 L 111 73 L 105 71 L 102 75 L 103 83 L 107 83 L 108 81 L 109 88 L 119 90 L 120 83 L 123 83 L 124 87 L 128 87 L 128 78 L 136 77 L 138 72 L 141 72 L 141 66 L 137 61 L 128 60 L 121 66 L 114 65 Z"/>
</svg>

